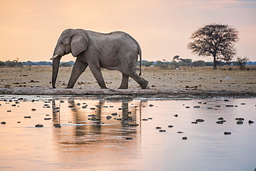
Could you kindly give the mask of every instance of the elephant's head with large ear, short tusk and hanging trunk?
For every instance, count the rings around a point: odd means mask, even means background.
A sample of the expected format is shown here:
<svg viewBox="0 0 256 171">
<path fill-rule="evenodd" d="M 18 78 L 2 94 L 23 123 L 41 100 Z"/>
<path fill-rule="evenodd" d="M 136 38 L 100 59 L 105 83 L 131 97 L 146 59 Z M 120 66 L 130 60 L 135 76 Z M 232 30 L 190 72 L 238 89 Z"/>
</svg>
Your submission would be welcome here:
<svg viewBox="0 0 256 171">
<path fill-rule="evenodd" d="M 53 52 L 53 57 L 51 58 L 53 60 L 53 88 L 55 88 L 57 73 L 60 66 L 60 59 L 62 56 L 71 52 L 73 57 L 77 57 L 78 54 L 86 50 L 88 45 L 89 41 L 86 37 L 85 30 L 67 29 L 62 32 Z"/>
</svg>

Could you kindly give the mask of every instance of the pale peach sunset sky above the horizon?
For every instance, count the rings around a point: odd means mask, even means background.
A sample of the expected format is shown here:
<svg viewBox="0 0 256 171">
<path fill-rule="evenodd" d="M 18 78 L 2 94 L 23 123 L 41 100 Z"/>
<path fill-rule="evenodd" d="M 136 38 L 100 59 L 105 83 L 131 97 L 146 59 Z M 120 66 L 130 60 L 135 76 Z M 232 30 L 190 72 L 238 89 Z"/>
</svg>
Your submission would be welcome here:
<svg viewBox="0 0 256 171">
<path fill-rule="evenodd" d="M 0 61 L 50 61 L 67 28 L 127 32 L 147 61 L 213 61 L 187 49 L 190 35 L 209 23 L 237 28 L 237 56 L 256 61 L 256 0 L 1 0 Z"/>
</svg>

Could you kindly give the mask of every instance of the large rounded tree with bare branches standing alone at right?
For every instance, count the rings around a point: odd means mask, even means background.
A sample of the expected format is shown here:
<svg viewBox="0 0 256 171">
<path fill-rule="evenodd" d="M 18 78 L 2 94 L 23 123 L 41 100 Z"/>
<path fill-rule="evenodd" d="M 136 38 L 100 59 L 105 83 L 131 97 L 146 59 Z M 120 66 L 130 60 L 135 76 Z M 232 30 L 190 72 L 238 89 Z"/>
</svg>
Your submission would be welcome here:
<svg viewBox="0 0 256 171">
<path fill-rule="evenodd" d="M 188 43 L 188 50 L 199 57 L 213 57 L 214 70 L 217 60 L 231 61 L 237 50 L 238 30 L 228 25 L 212 23 L 196 30 Z"/>
</svg>

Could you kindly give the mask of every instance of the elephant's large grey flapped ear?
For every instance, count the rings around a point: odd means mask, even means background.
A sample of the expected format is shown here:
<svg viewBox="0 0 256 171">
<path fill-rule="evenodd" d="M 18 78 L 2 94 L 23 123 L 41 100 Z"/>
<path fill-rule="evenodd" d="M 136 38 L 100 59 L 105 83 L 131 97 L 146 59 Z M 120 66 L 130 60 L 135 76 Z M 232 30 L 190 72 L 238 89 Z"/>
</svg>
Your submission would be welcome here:
<svg viewBox="0 0 256 171">
<path fill-rule="evenodd" d="M 86 50 L 89 45 L 88 38 L 86 34 L 82 31 L 77 31 L 71 37 L 71 53 L 73 57 L 76 57 L 78 54 Z"/>
</svg>

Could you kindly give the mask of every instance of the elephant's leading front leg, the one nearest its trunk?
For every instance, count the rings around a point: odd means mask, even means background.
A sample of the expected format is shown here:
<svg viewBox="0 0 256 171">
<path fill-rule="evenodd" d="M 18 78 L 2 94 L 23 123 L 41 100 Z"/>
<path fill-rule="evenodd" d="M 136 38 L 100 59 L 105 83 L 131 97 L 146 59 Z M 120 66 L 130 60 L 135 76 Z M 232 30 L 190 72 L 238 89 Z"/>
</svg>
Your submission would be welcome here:
<svg viewBox="0 0 256 171">
<path fill-rule="evenodd" d="M 80 59 L 77 58 L 75 60 L 73 70 L 71 72 L 71 77 L 68 81 L 68 86 L 66 88 L 73 88 L 73 86 L 75 85 L 75 82 L 80 77 L 82 72 L 84 72 L 84 70 L 86 69 L 87 66 L 88 66 L 88 64 L 84 63 L 83 61 L 80 61 Z"/>
</svg>

